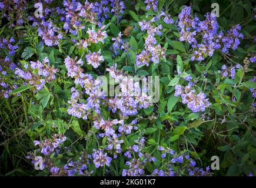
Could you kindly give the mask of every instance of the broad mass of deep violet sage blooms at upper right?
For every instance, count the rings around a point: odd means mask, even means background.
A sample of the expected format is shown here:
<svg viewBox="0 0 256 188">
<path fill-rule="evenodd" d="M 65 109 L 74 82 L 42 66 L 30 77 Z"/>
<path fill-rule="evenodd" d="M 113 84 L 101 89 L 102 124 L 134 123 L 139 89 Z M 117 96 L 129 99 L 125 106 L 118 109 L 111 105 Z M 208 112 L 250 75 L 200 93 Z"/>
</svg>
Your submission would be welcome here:
<svg viewBox="0 0 256 188">
<path fill-rule="evenodd" d="M 222 52 L 228 53 L 229 49 L 237 49 L 239 38 L 243 38 L 240 25 L 233 26 L 227 35 L 222 31 L 218 33 L 218 23 L 215 16 L 207 13 L 205 20 L 200 21 L 197 15 L 194 18 L 190 6 L 184 6 L 178 15 L 179 41 L 188 42 L 194 51 L 191 61 L 202 61 L 207 56 L 212 56 L 216 49 L 222 47 Z M 200 37 L 201 36 L 201 37 Z M 200 41 L 201 39 L 201 41 Z"/>
</svg>

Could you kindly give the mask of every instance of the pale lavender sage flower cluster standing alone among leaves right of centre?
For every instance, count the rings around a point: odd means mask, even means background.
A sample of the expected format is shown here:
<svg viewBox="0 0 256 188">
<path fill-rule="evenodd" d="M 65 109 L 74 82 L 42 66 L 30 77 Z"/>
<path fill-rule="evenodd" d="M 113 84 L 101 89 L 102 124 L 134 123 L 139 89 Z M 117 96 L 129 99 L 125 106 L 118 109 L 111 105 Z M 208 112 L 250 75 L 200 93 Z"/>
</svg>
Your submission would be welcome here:
<svg viewBox="0 0 256 188">
<path fill-rule="evenodd" d="M 204 112 L 211 105 L 209 99 L 206 99 L 206 95 L 203 92 L 196 94 L 196 91 L 191 89 L 191 86 L 185 86 L 183 89 L 181 85 L 175 85 L 174 96 L 181 96 L 182 103 L 187 104 L 188 108 L 195 113 Z"/>
</svg>

